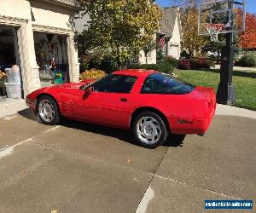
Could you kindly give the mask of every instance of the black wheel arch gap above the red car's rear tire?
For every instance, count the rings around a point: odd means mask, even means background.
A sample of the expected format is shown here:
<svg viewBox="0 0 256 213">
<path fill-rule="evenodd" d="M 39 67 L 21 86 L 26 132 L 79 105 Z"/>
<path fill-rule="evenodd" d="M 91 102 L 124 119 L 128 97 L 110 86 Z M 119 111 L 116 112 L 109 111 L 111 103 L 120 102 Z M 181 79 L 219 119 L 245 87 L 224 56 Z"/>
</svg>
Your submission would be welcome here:
<svg viewBox="0 0 256 213">
<path fill-rule="evenodd" d="M 139 113 L 145 112 L 145 111 L 154 112 L 154 113 L 156 113 L 157 115 L 159 115 L 160 118 L 162 118 L 163 121 L 165 122 L 165 124 L 166 124 L 166 129 L 169 130 L 169 131 L 171 131 L 171 129 L 170 129 L 170 124 L 169 124 L 169 122 L 168 122 L 168 120 L 167 120 L 167 118 L 166 118 L 166 115 L 165 115 L 163 112 L 160 112 L 160 110 L 158 110 L 158 109 L 156 109 L 156 108 L 154 108 L 154 107 L 139 107 L 139 108 L 137 108 L 137 109 L 131 114 L 131 119 L 130 119 L 130 124 L 129 124 L 130 129 L 132 129 L 133 121 L 134 121 L 134 119 L 137 117 L 137 115 L 138 115 Z"/>
</svg>

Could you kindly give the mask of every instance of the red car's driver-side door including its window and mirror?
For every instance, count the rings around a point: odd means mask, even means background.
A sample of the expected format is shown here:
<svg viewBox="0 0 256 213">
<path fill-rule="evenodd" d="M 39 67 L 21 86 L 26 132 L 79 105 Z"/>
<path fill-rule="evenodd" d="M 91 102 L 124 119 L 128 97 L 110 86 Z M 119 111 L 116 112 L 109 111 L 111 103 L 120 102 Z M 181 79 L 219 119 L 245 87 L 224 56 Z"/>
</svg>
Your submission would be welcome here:
<svg viewBox="0 0 256 213">
<path fill-rule="evenodd" d="M 75 117 L 128 128 L 133 108 L 131 89 L 136 80 L 136 77 L 110 74 L 92 84 L 93 89 L 80 90 L 74 100 Z"/>
</svg>

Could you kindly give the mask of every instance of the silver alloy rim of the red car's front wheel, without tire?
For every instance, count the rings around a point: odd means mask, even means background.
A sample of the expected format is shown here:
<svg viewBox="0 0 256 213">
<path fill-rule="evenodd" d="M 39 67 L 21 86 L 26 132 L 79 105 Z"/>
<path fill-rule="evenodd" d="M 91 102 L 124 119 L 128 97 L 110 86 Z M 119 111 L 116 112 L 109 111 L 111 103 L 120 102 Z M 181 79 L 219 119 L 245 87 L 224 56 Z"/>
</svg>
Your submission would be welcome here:
<svg viewBox="0 0 256 213">
<path fill-rule="evenodd" d="M 55 109 L 52 103 L 46 99 L 40 101 L 38 112 L 45 122 L 51 122 L 55 118 Z"/>
</svg>

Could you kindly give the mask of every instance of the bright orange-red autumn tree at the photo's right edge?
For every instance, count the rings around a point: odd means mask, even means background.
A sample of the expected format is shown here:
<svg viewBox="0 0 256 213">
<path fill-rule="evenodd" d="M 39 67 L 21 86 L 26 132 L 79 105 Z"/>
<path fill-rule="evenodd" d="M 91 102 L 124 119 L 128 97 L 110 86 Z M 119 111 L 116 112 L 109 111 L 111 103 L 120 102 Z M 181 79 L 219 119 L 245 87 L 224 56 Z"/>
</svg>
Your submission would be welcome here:
<svg viewBox="0 0 256 213">
<path fill-rule="evenodd" d="M 238 19 L 241 20 L 241 14 Z M 241 21 L 238 21 L 241 23 Z M 242 49 L 256 49 L 256 14 L 246 15 L 246 31 L 240 33 L 240 46 Z"/>
</svg>

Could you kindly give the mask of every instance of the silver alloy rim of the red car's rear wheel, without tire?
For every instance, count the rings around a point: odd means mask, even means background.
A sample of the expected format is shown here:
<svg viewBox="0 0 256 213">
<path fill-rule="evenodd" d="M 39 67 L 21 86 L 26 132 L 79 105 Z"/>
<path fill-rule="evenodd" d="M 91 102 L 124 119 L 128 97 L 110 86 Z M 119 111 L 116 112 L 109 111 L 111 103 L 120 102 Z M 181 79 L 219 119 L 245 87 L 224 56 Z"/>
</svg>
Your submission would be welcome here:
<svg viewBox="0 0 256 213">
<path fill-rule="evenodd" d="M 160 124 L 152 117 L 143 117 L 137 122 L 137 136 L 144 143 L 156 143 L 161 133 Z"/>
</svg>

